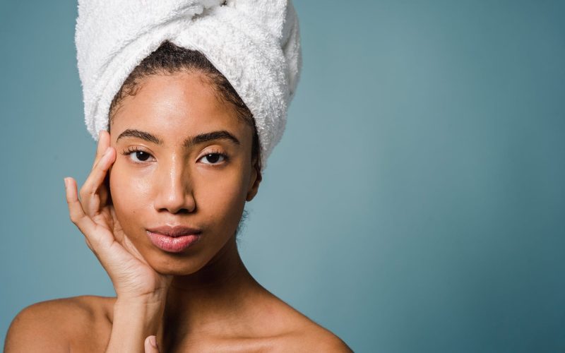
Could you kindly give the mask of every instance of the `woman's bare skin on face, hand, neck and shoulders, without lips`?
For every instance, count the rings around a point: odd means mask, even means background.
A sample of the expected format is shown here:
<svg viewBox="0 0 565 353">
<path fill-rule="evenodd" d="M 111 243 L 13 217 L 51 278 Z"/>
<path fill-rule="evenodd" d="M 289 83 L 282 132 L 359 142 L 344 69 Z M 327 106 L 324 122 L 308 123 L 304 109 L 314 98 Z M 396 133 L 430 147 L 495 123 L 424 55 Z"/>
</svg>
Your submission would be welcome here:
<svg viewBox="0 0 565 353">
<path fill-rule="evenodd" d="M 8 330 L 6 352 L 352 352 L 246 270 L 234 233 L 261 182 L 253 130 L 218 100 L 206 76 L 149 76 L 122 103 L 110 133 L 100 135 L 80 201 L 76 181 L 66 179 L 71 220 L 117 297 L 28 306 Z M 160 143 L 120 137 L 131 130 Z M 239 144 L 184 145 L 210 131 L 227 131 Z M 201 239 L 181 253 L 163 251 L 145 232 L 160 225 L 197 227 Z"/>
</svg>

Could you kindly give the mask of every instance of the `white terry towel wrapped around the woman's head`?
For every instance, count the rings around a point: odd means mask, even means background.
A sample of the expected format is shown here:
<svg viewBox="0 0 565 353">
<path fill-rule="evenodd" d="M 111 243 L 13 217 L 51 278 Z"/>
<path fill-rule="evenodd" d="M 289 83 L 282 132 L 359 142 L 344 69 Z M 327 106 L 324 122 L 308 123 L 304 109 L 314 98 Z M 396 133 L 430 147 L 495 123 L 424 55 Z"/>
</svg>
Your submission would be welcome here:
<svg viewBox="0 0 565 353">
<path fill-rule="evenodd" d="M 164 40 L 202 52 L 230 81 L 254 115 L 264 170 L 302 67 L 291 1 L 78 0 L 78 72 L 95 140 L 124 80 Z"/>
</svg>

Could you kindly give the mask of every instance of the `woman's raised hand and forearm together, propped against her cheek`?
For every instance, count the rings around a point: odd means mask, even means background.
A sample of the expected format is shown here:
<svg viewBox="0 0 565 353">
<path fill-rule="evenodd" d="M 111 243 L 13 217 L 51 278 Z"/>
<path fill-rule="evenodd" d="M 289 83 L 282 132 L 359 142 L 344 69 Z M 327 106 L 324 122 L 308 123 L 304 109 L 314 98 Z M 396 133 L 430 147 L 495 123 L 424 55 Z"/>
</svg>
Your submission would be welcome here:
<svg viewBox="0 0 565 353">
<path fill-rule="evenodd" d="M 104 182 L 115 158 L 109 133 L 101 131 L 93 169 L 81 188 L 81 198 L 76 181 L 66 178 L 66 201 L 71 221 L 84 234 L 117 294 L 105 352 L 138 353 L 148 348 L 148 335 L 162 334 L 160 325 L 172 275 L 157 273 L 119 224 L 109 186 Z M 154 352 L 153 348 L 148 352 Z"/>
</svg>

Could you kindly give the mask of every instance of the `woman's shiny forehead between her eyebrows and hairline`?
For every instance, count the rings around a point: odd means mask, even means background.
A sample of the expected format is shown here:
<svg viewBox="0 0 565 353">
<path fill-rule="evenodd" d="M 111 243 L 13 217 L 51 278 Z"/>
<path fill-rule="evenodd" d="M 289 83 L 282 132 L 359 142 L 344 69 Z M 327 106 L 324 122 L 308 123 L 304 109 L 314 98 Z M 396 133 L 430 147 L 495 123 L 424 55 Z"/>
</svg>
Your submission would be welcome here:
<svg viewBox="0 0 565 353">
<path fill-rule="evenodd" d="M 127 128 L 157 133 L 165 143 L 218 130 L 239 135 L 242 142 L 248 139 L 248 133 L 251 136 L 249 126 L 237 118 L 231 104 L 218 99 L 208 78 L 191 72 L 152 75 L 140 80 L 136 94 L 124 97 L 114 114 L 113 140 Z"/>
</svg>

